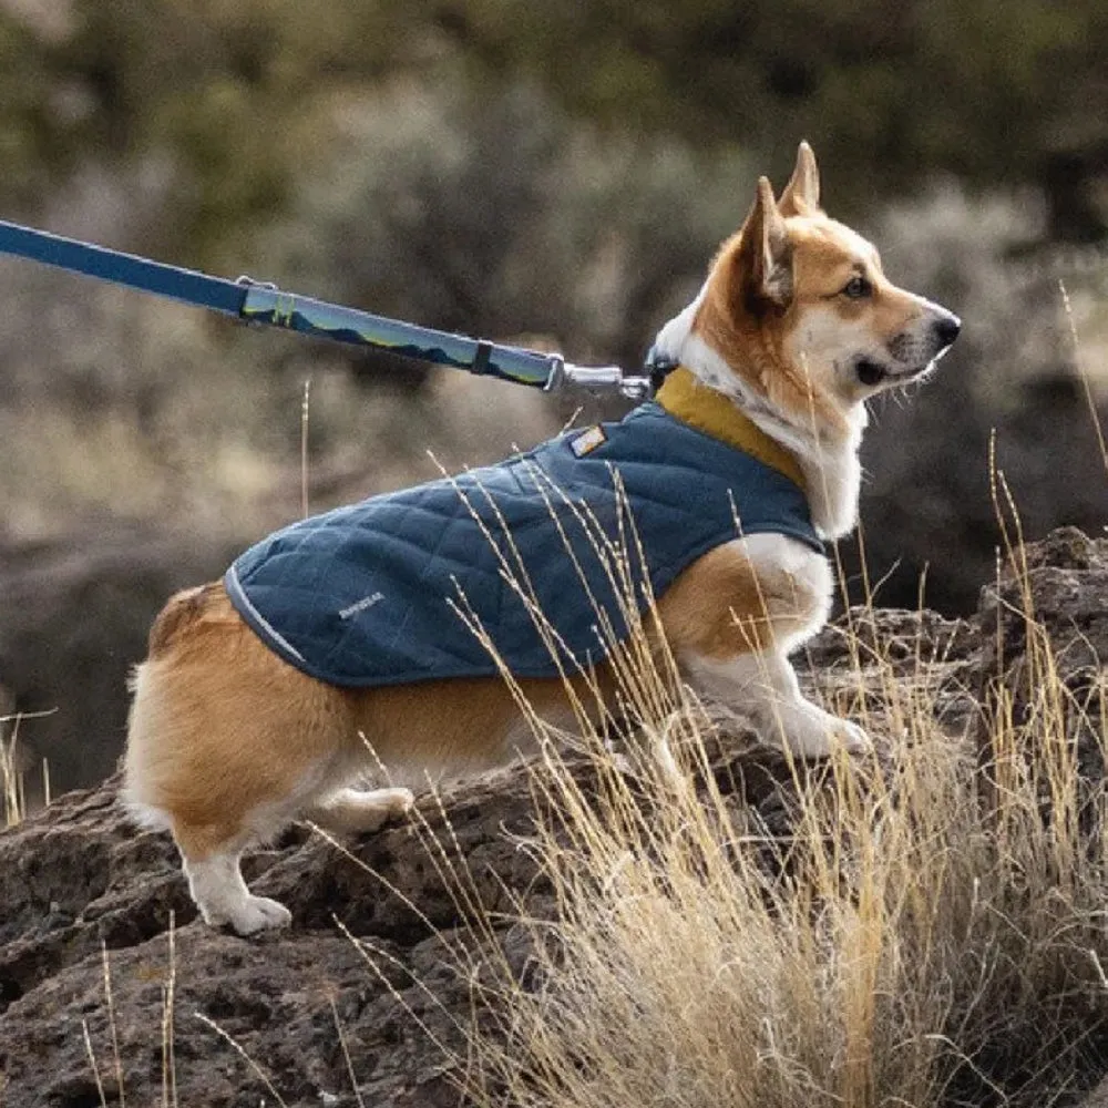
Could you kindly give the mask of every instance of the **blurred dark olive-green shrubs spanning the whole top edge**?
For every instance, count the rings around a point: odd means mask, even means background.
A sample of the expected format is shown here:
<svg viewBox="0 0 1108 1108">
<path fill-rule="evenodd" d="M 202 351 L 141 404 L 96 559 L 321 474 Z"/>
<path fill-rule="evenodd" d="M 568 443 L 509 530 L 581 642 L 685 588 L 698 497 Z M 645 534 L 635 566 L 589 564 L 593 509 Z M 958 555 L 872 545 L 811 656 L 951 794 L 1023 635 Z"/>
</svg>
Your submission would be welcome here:
<svg viewBox="0 0 1108 1108">
<path fill-rule="evenodd" d="M 3 0 L 0 197 L 156 156 L 167 244 L 223 263 L 318 166 L 337 99 L 523 79 L 613 135 L 741 144 L 777 172 L 807 136 L 849 216 L 941 170 L 1032 182 L 1053 236 L 1094 238 L 1106 54 L 1100 0 Z"/>
</svg>

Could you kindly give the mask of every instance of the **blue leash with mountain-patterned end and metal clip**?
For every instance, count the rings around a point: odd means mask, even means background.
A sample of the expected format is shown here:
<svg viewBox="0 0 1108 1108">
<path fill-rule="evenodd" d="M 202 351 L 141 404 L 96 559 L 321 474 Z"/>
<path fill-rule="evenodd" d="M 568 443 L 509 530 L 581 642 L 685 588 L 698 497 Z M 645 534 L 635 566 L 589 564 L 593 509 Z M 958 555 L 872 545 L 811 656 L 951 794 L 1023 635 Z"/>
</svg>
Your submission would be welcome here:
<svg viewBox="0 0 1108 1108">
<path fill-rule="evenodd" d="M 125 285 L 246 322 L 280 327 L 350 346 L 388 350 L 402 358 L 450 366 L 547 391 L 581 386 L 615 389 L 633 400 L 650 394 L 649 378 L 625 377 L 618 366 L 574 366 L 560 355 L 545 355 L 430 327 L 417 327 L 357 308 L 283 293 L 276 285 L 249 277 L 239 277 L 238 280 L 211 277 L 194 269 L 168 266 L 3 219 L 0 219 L 0 254 L 12 254 L 113 285 Z"/>
</svg>

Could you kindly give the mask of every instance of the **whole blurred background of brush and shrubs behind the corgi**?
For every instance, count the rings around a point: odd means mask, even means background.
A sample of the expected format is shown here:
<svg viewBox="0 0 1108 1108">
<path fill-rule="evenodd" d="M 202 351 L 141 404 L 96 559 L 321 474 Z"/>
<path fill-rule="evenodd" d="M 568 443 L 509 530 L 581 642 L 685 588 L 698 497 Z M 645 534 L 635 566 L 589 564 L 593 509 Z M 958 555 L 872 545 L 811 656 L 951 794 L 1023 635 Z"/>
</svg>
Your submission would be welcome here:
<svg viewBox="0 0 1108 1108">
<path fill-rule="evenodd" d="M 874 413 L 863 520 L 879 601 L 926 570 L 966 611 L 994 429 L 1029 533 L 1108 517 L 1105 57 L 1101 0 L 0 0 L 0 216 L 632 367 L 807 137 L 965 319 Z M 63 783 L 110 767 L 165 591 L 299 512 L 306 381 L 317 509 L 573 414 L 25 263 L 0 305 L 0 685 L 85 745 Z"/>
</svg>

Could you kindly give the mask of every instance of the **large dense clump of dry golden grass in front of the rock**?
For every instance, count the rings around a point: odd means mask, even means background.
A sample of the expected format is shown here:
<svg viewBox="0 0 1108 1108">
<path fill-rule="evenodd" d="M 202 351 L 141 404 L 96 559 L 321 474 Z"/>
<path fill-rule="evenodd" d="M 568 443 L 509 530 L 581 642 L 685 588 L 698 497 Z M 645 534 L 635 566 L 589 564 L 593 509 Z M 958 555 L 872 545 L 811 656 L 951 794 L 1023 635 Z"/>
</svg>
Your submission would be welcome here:
<svg viewBox="0 0 1108 1108">
<path fill-rule="evenodd" d="M 872 726 L 904 737 L 888 761 L 798 768 L 791 837 L 715 787 L 694 705 L 670 738 L 697 790 L 633 783 L 597 746 L 586 794 L 551 755 L 532 845 L 556 919 L 524 923 L 531 984 L 503 975 L 489 998 L 505 1014 L 471 1095 L 924 1108 L 1047 1104 L 1080 1080 L 1108 1015 L 1105 796 L 1079 781 L 1078 706 L 1032 642 L 1033 700 L 1017 720 L 997 698 L 984 759 L 871 664 Z"/>
</svg>

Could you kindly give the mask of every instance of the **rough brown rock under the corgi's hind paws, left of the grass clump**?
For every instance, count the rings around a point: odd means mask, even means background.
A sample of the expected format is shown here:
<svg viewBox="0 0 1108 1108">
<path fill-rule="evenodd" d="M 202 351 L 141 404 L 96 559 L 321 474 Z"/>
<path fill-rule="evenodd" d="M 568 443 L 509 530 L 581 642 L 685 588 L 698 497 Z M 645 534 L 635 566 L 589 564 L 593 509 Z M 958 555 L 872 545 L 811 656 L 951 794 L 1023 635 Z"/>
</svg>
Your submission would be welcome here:
<svg viewBox="0 0 1108 1108">
<path fill-rule="evenodd" d="M 517 781 L 484 780 L 447 807 L 490 903 L 495 874 L 526 882 L 522 856 L 503 845 L 504 832 L 526 828 Z M 434 806 L 425 814 L 434 818 Z M 132 1104 L 160 1102 L 172 1079 L 183 1105 L 257 1105 L 265 1084 L 197 1013 L 289 1105 L 352 1105 L 352 1080 L 367 1104 L 452 1102 L 447 1059 L 412 1014 L 460 1045 L 439 1006 L 459 1015 L 466 1006 L 464 982 L 444 968 L 458 910 L 411 825 L 380 832 L 350 858 L 297 830 L 255 854 L 247 874 L 293 909 L 291 933 L 244 942 L 196 922 L 172 843 L 135 833 L 113 782 L 0 840 L 0 1102 L 99 1104 L 88 1028 L 109 1102 L 120 1099 L 122 1074 Z M 391 963 L 384 977 L 336 920 Z M 163 1050 L 171 1012 L 172 1059 Z"/>
</svg>

